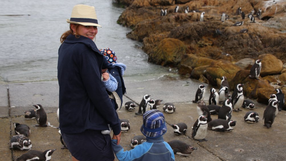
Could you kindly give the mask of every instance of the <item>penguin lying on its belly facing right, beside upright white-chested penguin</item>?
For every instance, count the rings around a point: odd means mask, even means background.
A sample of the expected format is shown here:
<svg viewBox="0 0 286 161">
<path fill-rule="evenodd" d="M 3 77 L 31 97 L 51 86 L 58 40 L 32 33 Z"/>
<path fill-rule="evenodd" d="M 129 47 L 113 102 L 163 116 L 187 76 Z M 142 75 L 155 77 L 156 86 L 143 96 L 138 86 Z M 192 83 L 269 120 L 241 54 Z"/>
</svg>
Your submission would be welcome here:
<svg viewBox="0 0 286 161">
<path fill-rule="evenodd" d="M 208 129 L 219 132 L 231 131 L 234 129 L 235 124 L 236 121 L 233 120 L 215 119 L 208 122 Z"/>
</svg>

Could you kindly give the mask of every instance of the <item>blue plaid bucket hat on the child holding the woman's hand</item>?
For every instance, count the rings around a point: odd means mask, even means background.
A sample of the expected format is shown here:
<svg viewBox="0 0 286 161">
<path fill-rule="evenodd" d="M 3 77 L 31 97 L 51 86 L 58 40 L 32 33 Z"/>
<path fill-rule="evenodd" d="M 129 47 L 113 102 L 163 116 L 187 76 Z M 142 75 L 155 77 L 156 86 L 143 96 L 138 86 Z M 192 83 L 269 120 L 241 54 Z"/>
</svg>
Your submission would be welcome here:
<svg viewBox="0 0 286 161">
<path fill-rule="evenodd" d="M 164 114 L 156 109 L 145 112 L 140 131 L 148 138 L 158 138 L 164 135 L 167 132 Z"/>
</svg>

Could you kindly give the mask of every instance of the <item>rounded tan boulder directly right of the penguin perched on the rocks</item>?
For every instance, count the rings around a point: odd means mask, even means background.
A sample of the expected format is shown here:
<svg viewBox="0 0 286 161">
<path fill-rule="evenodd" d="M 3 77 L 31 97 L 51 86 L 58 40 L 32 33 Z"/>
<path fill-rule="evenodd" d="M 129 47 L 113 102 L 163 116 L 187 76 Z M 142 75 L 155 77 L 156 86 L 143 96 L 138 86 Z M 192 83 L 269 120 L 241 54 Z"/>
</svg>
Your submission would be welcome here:
<svg viewBox="0 0 286 161">
<path fill-rule="evenodd" d="M 262 59 L 261 77 L 266 75 L 279 74 L 283 69 L 283 63 L 272 54 L 259 55 L 258 59 Z"/>
</svg>

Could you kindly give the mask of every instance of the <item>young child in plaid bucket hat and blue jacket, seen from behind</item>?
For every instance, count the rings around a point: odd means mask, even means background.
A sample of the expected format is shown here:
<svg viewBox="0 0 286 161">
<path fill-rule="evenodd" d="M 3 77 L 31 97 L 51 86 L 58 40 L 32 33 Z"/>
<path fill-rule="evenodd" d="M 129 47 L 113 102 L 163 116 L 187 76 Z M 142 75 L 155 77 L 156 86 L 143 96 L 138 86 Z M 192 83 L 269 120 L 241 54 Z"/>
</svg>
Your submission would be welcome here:
<svg viewBox="0 0 286 161">
<path fill-rule="evenodd" d="M 162 112 L 156 109 L 145 112 L 140 130 L 146 136 L 146 142 L 129 151 L 124 151 L 122 146 L 117 145 L 116 137 L 113 135 L 111 146 L 118 160 L 175 160 L 172 148 L 163 138 L 167 127 Z"/>
</svg>

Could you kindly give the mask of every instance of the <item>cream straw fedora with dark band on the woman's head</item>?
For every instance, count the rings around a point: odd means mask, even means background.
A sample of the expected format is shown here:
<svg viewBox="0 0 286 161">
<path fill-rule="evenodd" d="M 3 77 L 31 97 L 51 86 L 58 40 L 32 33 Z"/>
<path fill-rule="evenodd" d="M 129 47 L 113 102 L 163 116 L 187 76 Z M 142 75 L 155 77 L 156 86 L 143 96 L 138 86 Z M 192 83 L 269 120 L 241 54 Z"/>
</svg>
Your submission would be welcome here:
<svg viewBox="0 0 286 161">
<path fill-rule="evenodd" d="M 75 5 L 72 9 L 71 18 L 67 19 L 67 23 L 101 27 L 98 25 L 94 7 L 88 5 Z"/>
</svg>

